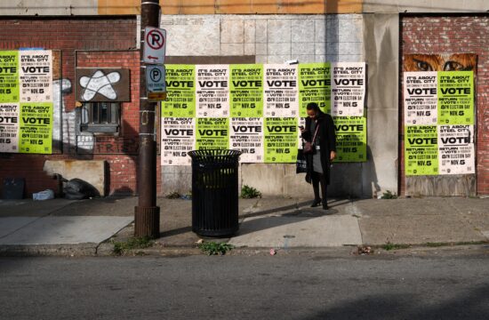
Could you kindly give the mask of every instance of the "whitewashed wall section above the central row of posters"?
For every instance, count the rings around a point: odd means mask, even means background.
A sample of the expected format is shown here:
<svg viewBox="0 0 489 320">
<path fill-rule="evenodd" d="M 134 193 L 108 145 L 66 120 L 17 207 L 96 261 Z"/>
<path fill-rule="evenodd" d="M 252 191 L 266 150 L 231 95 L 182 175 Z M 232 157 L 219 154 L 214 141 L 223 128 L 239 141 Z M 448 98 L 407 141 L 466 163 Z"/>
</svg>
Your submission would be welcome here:
<svg viewBox="0 0 489 320">
<path fill-rule="evenodd" d="M 168 56 L 255 55 L 256 63 L 362 61 L 360 14 L 164 15 Z"/>
</svg>

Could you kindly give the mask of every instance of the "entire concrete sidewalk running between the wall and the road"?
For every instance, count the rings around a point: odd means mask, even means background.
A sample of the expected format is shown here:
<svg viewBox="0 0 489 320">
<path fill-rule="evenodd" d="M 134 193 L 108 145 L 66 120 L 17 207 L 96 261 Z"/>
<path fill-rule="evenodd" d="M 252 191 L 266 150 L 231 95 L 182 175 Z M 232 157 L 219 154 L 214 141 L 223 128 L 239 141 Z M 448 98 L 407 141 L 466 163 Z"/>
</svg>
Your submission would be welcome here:
<svg viewBox="0 0 489 320">
<path fill-rule="evenodd" d="M 107 255 L 116 236 L 133 235 L 137 197 L 92 200 L 0 200 L 0 255 Z M 192 202 L 160 197 L 161 236 L 153 252 L 195 250 Z M 310 199 L 239 200 L 236 248 L 269 250 L 345 245 L 462 244 L 489 240 L 489 198 L 426 197 L 330 200 L 327 212 Z M 220 239 L 219 241 L 222 241 Z"/>
</svg>

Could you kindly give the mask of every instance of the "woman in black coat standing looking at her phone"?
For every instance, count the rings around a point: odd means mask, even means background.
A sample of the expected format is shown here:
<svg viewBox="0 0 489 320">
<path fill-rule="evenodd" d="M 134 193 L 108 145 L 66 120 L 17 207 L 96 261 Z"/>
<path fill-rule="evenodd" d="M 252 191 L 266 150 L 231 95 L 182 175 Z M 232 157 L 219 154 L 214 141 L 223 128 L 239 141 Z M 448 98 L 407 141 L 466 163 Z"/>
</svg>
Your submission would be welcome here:
<svg viewBox="0 0 489 320">
<path fill-rule="evenodd" d="M 312 142 L 317 130 L 314 145 L 316 152 L 307 156 L 306 180 L 312 181 L 314 190 L 314 201 L 311 207 L 323 203 L 323 209 L 328 210 L 326 201 L 326 190 L 330 182 L 331 162 L 336 157 L 336 134 L 334 132 L 333 118 L 325 114 L 317 106 L 316 102 L 310 102 L 306 107 L 308 117 L 306 118 L 306 128 L 301 129 L 301 136 L 304 140 Z M 319 196 L 319 184 L 321 184 L 321 196 Z"/>
</svg>

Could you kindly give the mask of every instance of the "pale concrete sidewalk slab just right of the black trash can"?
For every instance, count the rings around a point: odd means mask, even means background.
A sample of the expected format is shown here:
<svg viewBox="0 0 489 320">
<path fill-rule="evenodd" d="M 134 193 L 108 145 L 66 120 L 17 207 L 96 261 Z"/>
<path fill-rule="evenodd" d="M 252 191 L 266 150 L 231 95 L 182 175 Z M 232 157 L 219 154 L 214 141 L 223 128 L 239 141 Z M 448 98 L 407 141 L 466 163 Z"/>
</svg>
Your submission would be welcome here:
<svg viewBox="0 0 489 320">
<path fill-rule="evenodd" d="M 349 215 L 268 216 L 245 218 L 229 244 L 267 248 L 329 247 L 362 244 L 362 236 L 357 218 Z"/>
</svg>

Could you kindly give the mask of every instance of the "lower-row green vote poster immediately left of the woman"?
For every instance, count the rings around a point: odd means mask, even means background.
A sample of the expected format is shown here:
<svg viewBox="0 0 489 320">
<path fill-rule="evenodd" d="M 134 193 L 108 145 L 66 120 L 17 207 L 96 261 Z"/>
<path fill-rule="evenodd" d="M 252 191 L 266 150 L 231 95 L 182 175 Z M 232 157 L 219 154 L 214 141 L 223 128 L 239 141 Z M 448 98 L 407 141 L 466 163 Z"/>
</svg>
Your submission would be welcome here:
<svg viewBox="0 0 489 320">
<path fill-rule="evenodd" d="M 265 118 L 265 163 L 295 163 L 298 147 L 297 125 L 296 117 Z"/>
</svg>

